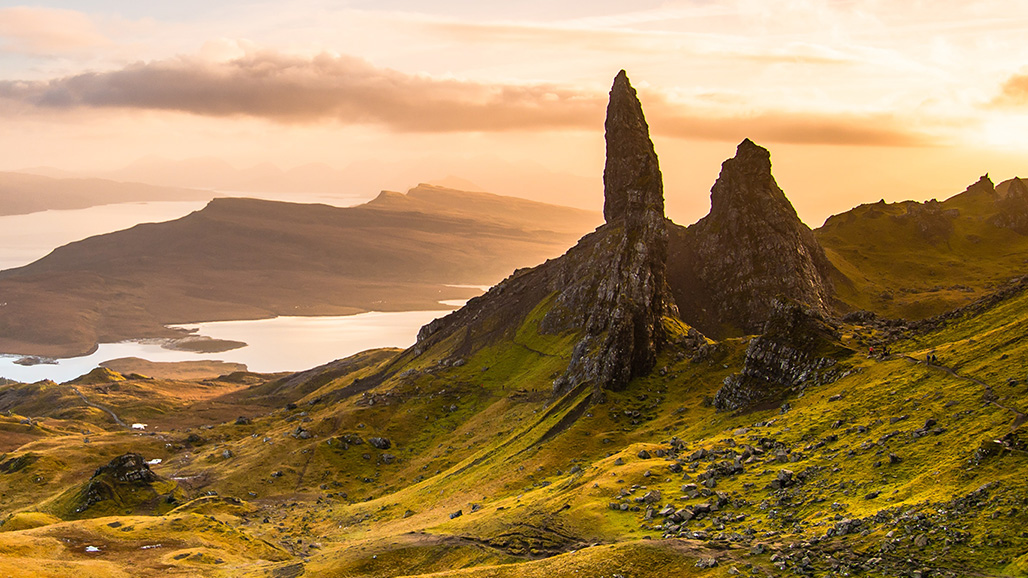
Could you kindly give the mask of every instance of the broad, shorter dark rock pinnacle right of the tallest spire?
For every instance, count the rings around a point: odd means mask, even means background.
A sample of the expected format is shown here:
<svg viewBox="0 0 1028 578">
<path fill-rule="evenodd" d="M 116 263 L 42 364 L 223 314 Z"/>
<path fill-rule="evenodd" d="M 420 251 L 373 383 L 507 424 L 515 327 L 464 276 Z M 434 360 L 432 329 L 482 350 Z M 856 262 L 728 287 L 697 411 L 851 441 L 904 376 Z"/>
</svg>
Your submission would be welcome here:
<svg viewBox="0 0 1028 578">
<path fill-rule="evenodd" d="M 712 337 L 756 333 L 775 295 L 832 310 L 834 267 L 749 139 L 722 165 L 710 213 L 669 230 L 668 283 L 682 319 Z"/>
</svg>

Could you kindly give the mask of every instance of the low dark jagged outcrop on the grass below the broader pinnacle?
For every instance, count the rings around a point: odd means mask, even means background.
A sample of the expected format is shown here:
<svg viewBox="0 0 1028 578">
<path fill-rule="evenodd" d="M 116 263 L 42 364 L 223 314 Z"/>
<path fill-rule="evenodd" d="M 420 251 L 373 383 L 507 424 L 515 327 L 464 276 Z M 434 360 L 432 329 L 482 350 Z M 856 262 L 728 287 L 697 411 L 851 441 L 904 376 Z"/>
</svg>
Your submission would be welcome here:
<svg viewBox="0 0 1028 578">
<path fill-rule="evenodd" d="M 746 348 L 742 371 L 725 378 L 713 405 L 724 411 L 775 403 L 807 385 L 836 381 L 845 371 L 838 361 L 850 355 L 817 310 L 776 298 L 764 334 Z"/>
</svg>

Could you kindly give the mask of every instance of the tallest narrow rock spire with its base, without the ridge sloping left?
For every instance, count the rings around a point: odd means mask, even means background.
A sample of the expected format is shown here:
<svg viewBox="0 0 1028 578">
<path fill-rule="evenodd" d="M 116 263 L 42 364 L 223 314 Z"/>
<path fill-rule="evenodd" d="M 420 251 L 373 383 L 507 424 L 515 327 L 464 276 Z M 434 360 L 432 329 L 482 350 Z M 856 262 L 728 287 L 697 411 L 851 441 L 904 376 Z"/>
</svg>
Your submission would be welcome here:
<svg viewBox="0 0 1028 578">
<path fill-rule="evenodd" d="M 676 314 L 664 275 L 664 184 L 642 105 L 624 70 L 614 79 L 603 127 L 607 231 L 602 253 L 593 260 L 599 270 L 571 283 L 544 319 L 546 328 L 562 311 L 586 313 L 586 334 L 558 391 L 583 382 L 620 389 L 649 372 L 665 340 L 661 319 Z"/>
</svg>

